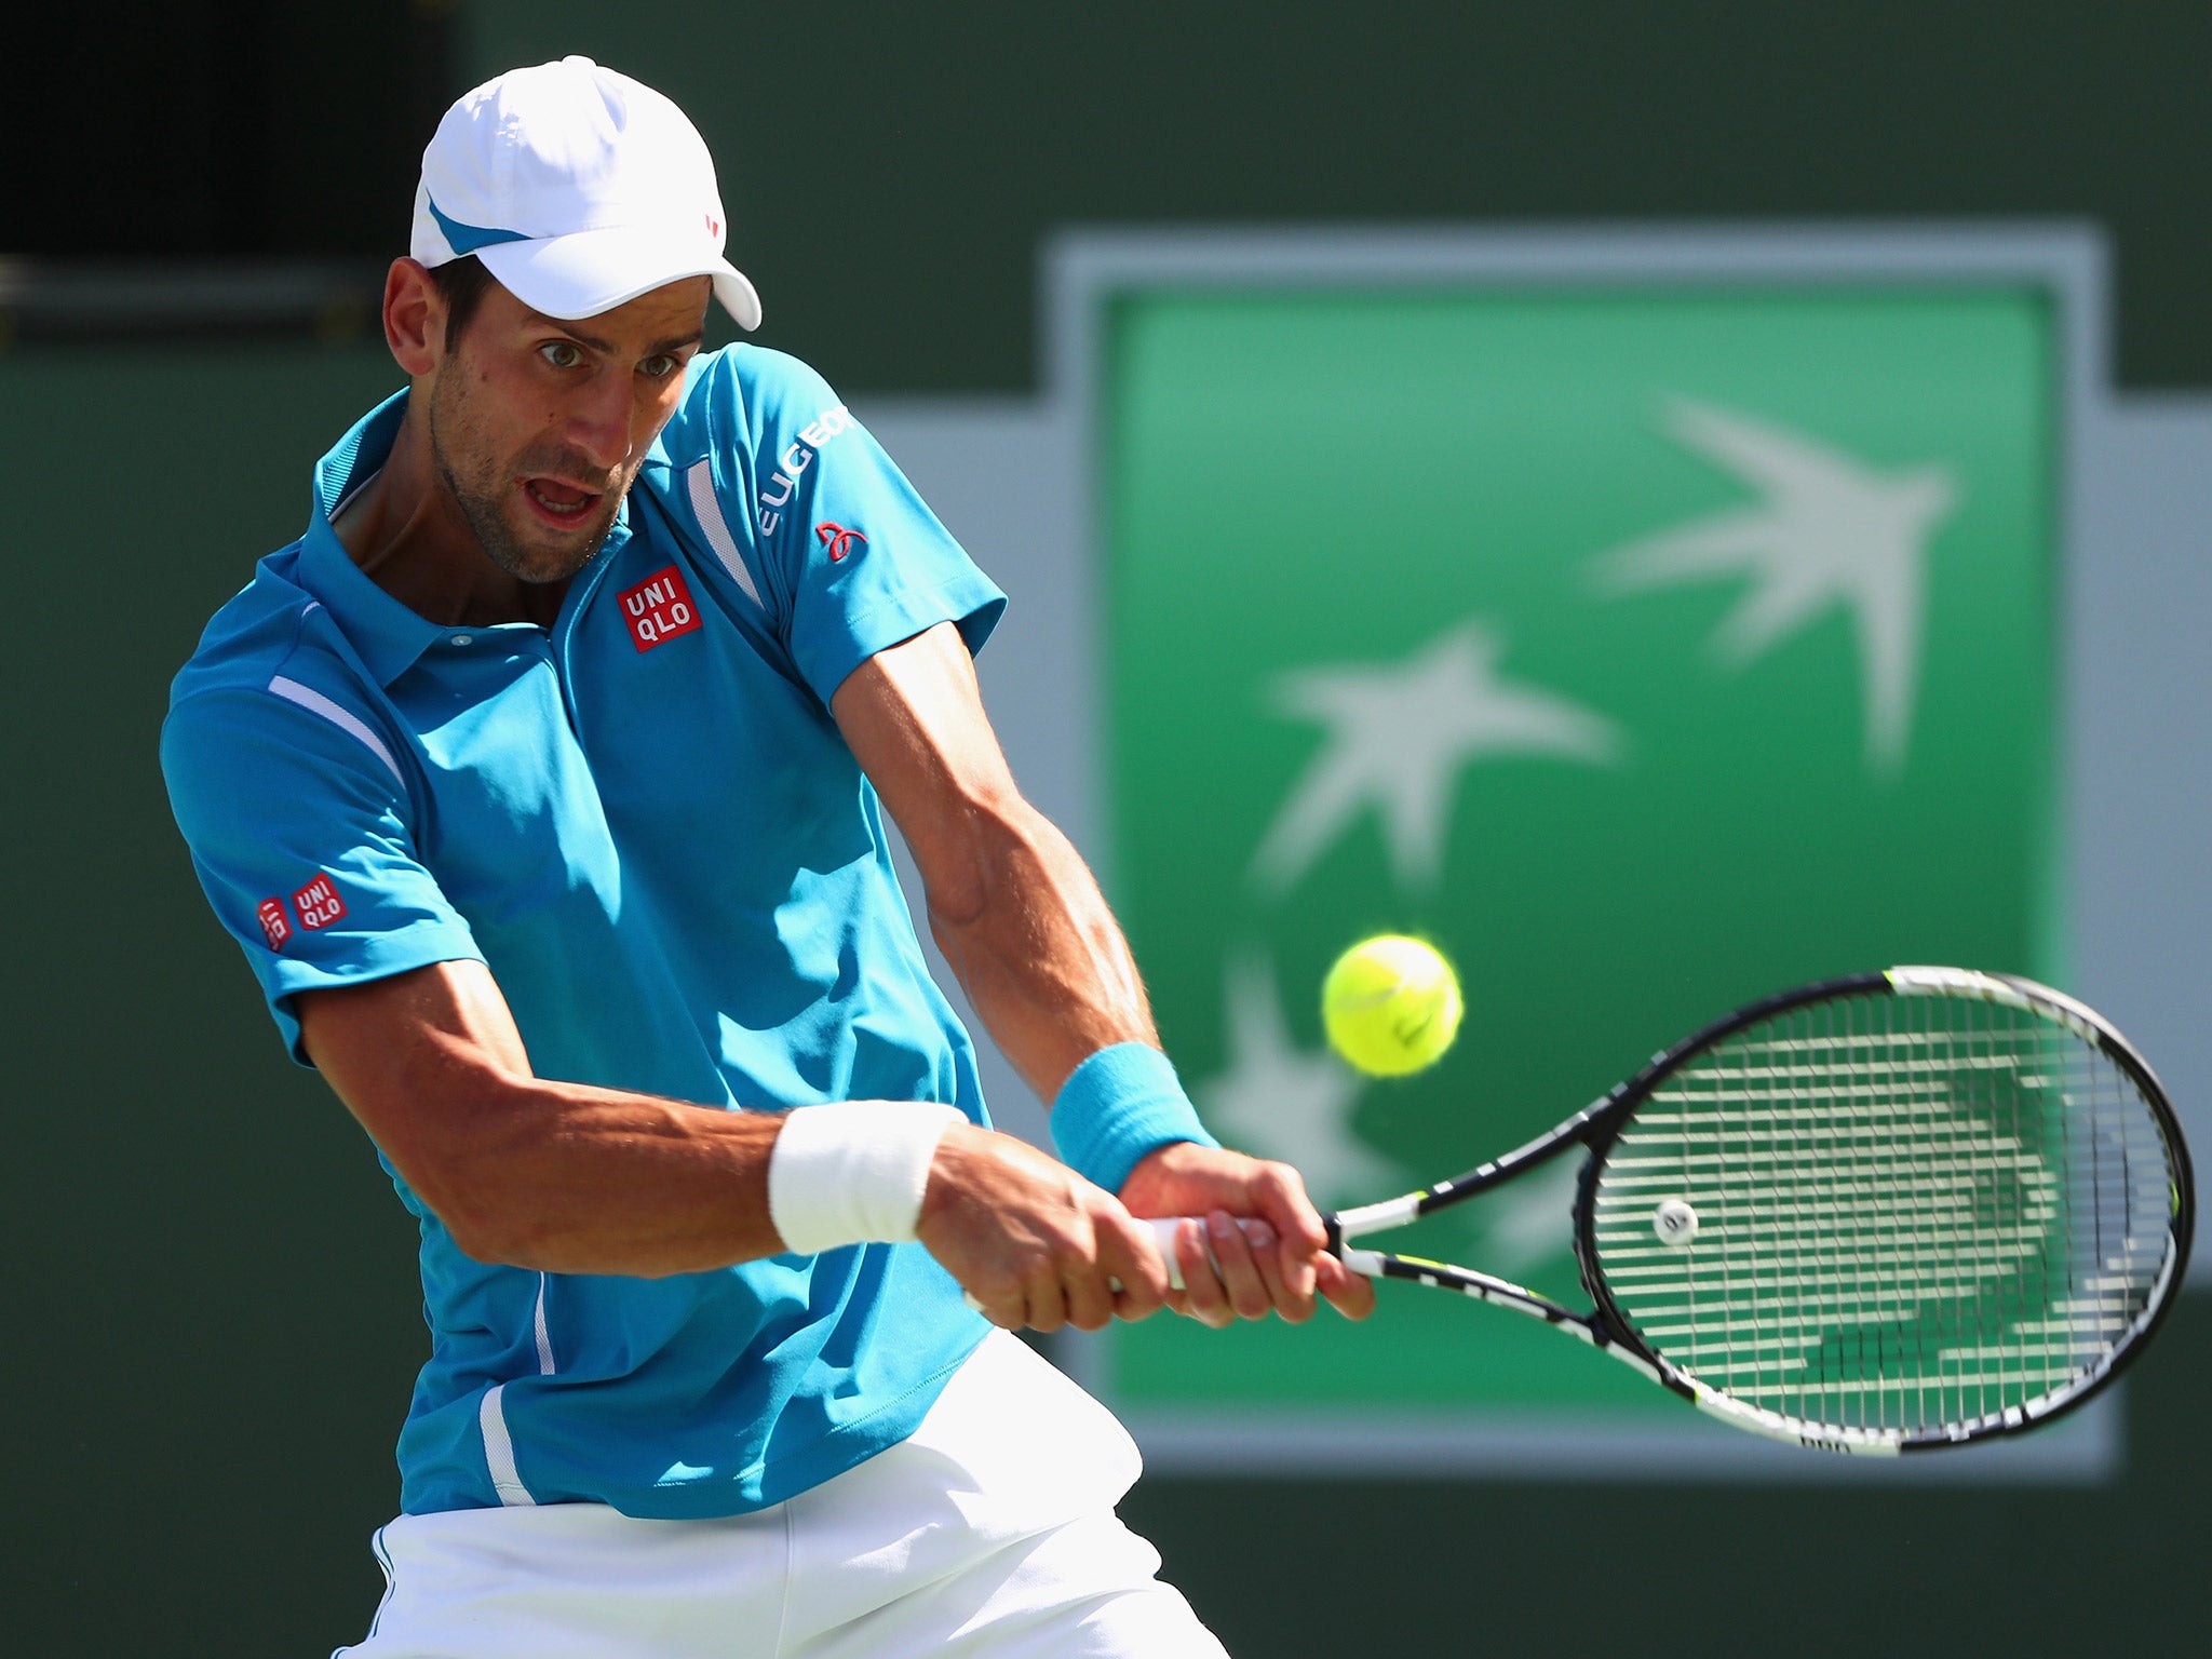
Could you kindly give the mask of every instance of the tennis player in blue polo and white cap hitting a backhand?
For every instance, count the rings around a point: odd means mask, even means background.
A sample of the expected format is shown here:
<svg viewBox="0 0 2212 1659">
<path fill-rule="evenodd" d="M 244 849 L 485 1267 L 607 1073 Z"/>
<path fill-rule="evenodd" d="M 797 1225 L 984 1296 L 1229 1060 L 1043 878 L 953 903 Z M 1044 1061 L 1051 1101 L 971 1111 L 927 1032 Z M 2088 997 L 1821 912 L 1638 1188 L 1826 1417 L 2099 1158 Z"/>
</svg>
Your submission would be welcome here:
<svg viewBox="0 0 2212 1659">
<path fill-rule="evenodd" d="M 175 686 L 208 900 L 420 1219 L 345 1652 L 1217 1655 L 1115 1520 L 1128 1436 L 1004 1332 L 1371 1290 L 1199 1126 L 1015 792 L 1004 597 L 816 374 L 701 354 L 710 299 L 761 316 L 723 246 L 659 93 L 568 58 L 453 104 L 407 389 Z M 989 1128 L 880 807 L 1057 1161 Z"/>
</svg>

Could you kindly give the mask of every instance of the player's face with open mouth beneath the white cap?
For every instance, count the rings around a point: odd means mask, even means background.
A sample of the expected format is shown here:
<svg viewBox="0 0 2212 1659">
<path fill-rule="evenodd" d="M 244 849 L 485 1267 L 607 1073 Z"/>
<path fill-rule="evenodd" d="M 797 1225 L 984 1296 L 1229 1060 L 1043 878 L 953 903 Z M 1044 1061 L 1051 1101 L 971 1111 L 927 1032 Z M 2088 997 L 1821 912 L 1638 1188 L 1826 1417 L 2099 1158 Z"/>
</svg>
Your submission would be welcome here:
<svg viewBox="0 0 2212 1659">
<path fill-rule="evenodd" d="M 580 323 L 484 292 L 431 374 L 429 447 L 493 564 L 562 582 L 599 549 L 675 414 L 708 292 L 686 276 Z"/>
</svg>

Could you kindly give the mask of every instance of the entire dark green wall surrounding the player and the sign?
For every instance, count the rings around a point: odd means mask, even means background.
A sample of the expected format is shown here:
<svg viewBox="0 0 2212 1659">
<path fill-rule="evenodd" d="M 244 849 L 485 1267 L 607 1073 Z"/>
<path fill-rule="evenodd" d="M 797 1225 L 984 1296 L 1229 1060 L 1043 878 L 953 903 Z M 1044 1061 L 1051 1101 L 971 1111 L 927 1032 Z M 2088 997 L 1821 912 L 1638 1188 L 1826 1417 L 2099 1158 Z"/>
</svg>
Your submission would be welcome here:
<svg viewBox="0 0 2212 1659">
<path fill-rule="evenodd" d="M 263 29 L 263 91 L 332 69 L 314 31 L 268 33 L 274 9 L 197 11 Z M 358 11 L 394 27 L 345 35 L 345 84 L 405 84 L 445 9 Z M 2115 237 L 2121 380 L 2212 385 L 2212 13 L 1933 11 L 480 0 L 440 95 L 568 49 L 677 95 L 723 157 L 768 343 L 852 392 L 1029 389 L 1035 250 L 1062 223 L 2053 212 Z M 126 51 L 131 18 L 106 27 Z M 40 84 L 84 62 L 66 44 L 31 55 Z M 263 137 L 285 119 L 314 111 Z M 263 188 L 312 190 L 303 155 Z M 361 175 L 394 175 L 380 157 Z M 102 179 L 128 195 L 133 166 Z M 212 250 L 400 246 L 405 201 L 345 206 L 336 230 L 288 206 L 290 241 Z M 0 237 L 35 248 L 44 223 L 11 201 Z M 161 234 L 104 252 L 210 250 Z M 365 1544 L 422 1340 L 411 1230 L 204 914 L 153 739 L 206 615 L 296 533 L 305 467 L 389 385 L 363 343 L 0 354 L 9 1650 L 325 1652 L 374 1606 Z M 1809 1655 L 2185 1639 L 2201 1310 L 2130 1387 L 2128 1473 L 2104 1489 L 1155 1478 L 1126 1513 L 1248 1657 L 1453 1630 L 1498 1652 L 1637 1628 Z"/>
</svg>

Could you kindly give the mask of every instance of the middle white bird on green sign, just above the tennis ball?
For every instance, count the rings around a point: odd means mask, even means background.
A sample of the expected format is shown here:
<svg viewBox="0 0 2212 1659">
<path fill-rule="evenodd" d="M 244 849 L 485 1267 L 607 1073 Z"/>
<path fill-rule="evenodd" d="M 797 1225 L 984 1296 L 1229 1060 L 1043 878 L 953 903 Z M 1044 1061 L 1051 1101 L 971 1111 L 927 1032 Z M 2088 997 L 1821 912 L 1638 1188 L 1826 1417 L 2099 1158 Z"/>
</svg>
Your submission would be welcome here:
<svg viewBox="0 0 2212 1659">
<path fill-rule="evenodd" d="M 1467 761 L 1542 754 L 1608 763 L 1613 721 L 1564 697 L 1498 677 L 1502 646 L 1464 622 L 1402 664 L 1303 668 L 1274 681 L 1274 703 L 1329 730 L 1252 856 L 1254 878 L 1285 891 L 1369 803 L 1383 814 L 1400 885 L 1433 885 L 1444 865 L 1451 785 Z"/>
</svg>

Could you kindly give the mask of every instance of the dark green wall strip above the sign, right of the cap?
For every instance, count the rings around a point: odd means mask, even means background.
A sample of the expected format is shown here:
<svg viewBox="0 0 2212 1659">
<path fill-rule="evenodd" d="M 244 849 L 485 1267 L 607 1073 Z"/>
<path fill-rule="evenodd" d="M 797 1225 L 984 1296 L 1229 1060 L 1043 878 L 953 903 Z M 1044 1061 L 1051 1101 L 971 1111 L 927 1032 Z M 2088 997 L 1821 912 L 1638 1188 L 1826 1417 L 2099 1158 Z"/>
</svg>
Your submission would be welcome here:
<svg viewBox="0 0 2212 1659">
<path fill-rule="evenodd" d="M 1905 215 L 2104 221 L 2121 380 L 2212 385 L 2188 0 L 473 0 L 456 40 L 677 97 L 834 385 L 1026 389 L 1064 223 Z"/>
</svg>

